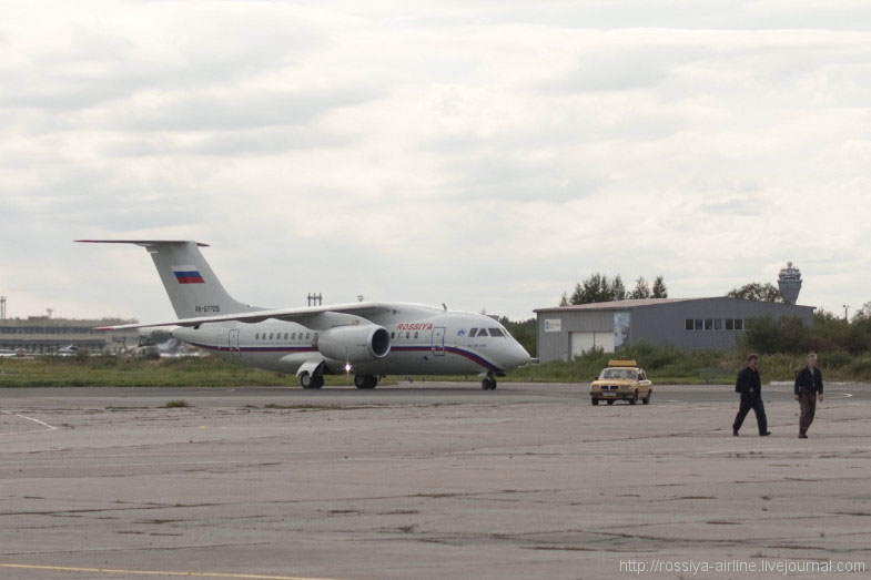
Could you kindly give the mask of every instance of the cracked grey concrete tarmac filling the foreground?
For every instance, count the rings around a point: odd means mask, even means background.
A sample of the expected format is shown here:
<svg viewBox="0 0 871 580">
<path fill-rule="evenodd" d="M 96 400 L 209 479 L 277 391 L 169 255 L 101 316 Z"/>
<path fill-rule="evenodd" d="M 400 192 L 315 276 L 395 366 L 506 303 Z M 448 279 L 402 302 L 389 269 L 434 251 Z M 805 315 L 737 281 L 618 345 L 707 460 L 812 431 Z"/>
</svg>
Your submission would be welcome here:
<svg viewBox="0 0 871 580">
<path fill-rule="evenodd" d="M 0 578 L 871 573 L 870 385 L 587 391 L 0 389 Z"/>
</svg>

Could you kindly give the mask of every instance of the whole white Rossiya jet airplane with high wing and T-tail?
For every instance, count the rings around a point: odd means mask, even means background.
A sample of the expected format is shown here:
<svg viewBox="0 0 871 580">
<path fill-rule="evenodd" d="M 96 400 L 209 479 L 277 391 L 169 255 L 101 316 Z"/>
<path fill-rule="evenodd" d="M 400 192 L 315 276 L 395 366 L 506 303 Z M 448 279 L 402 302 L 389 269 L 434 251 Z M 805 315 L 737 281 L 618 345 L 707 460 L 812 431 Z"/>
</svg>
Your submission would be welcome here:
<svg viewBox="0 0 871 580">
<path fill-rule="evenodd" d="M 483 314 L 417 304 L 358 302 L 269 309 L 232 298 L 193 241 L 77 240 L 133 244 L 151 254 L 179 317 L 171 322 L 99 329 L 171 326 L 173 337 L 214 356 L 295 374 L 303 388 L 324 375 L 354 373 L 354 385 L 375 388 L 386 375 L 478 375 L 482 388 L 530 363 L 503 325 Z"/>
</svg>

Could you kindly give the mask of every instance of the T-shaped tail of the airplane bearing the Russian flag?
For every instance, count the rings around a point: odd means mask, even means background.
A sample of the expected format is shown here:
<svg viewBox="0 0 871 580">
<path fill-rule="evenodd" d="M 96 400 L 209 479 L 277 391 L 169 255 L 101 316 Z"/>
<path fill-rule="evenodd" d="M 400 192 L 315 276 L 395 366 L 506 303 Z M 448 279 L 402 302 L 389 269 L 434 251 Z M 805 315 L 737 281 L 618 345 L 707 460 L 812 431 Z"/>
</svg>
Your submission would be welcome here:
<svg viewBox="0 0 871 580">
<path fill-rule="evenodd" d="M 160 274 L 179 318 L 259 311 L 233 299 L 200 252 L 201 244 L 161 240 L 77 240 L 97 244 L 135 244 L 144 247 Z"/>
</svg>

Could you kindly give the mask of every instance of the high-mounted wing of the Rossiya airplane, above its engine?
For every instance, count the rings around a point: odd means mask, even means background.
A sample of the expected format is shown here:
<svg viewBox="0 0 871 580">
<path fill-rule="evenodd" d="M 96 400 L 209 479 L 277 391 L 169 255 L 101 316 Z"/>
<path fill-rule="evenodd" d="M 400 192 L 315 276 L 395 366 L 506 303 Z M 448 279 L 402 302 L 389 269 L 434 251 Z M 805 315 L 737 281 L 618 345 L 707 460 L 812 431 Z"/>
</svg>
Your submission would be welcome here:
<svg viewBox="0 0 871 580">
<path fill-rule="evenodd" d="M 129 328 L 152 328 L 156 326 L 199 326 L 201 324 L 211 323 L 262 323 L 263 320 L 273 318 L 276 320 L 294 322 L 307 326 L 312 329 L 326 329 L 337 323 L 347 320 L 354 317 L 367 318 L 376 314 L 395 313 L 395 305 L 379 304 L 379 303 L 355 303 L 355 304 L 340 304 L 335 306 L 308 306 L 305 308 L 280 308 L 254 311 L 236 314 L 219 314 L 213 316 L 198 316 L 195 318 L 181 318 L 178 320 L 148 323 L 148 324 L 121 324 L 115 326 L 98 326 L 97 330 L 125 330 Z M 343 316 L 344 315 L 344 316 Z M 331 324 L 332 323 L 332 324 Z"/>
</svg>

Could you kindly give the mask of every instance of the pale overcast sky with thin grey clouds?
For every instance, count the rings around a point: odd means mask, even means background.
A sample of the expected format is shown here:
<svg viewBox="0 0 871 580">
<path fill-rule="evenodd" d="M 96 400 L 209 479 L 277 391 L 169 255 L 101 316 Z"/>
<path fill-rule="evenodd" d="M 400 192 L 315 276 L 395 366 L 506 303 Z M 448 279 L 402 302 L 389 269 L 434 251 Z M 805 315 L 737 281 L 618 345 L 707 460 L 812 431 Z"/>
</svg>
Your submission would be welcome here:
<svg viewBox="0 0 871 580">
<path fill-rule="evenodd" d="M 871 4 L 4 1 L 10 317 L 174 314 L 196 240 L 266 307 L 533 317 L 593 273 L 670 297 L 801 269 L 871 301 Z"/>
</svg>

